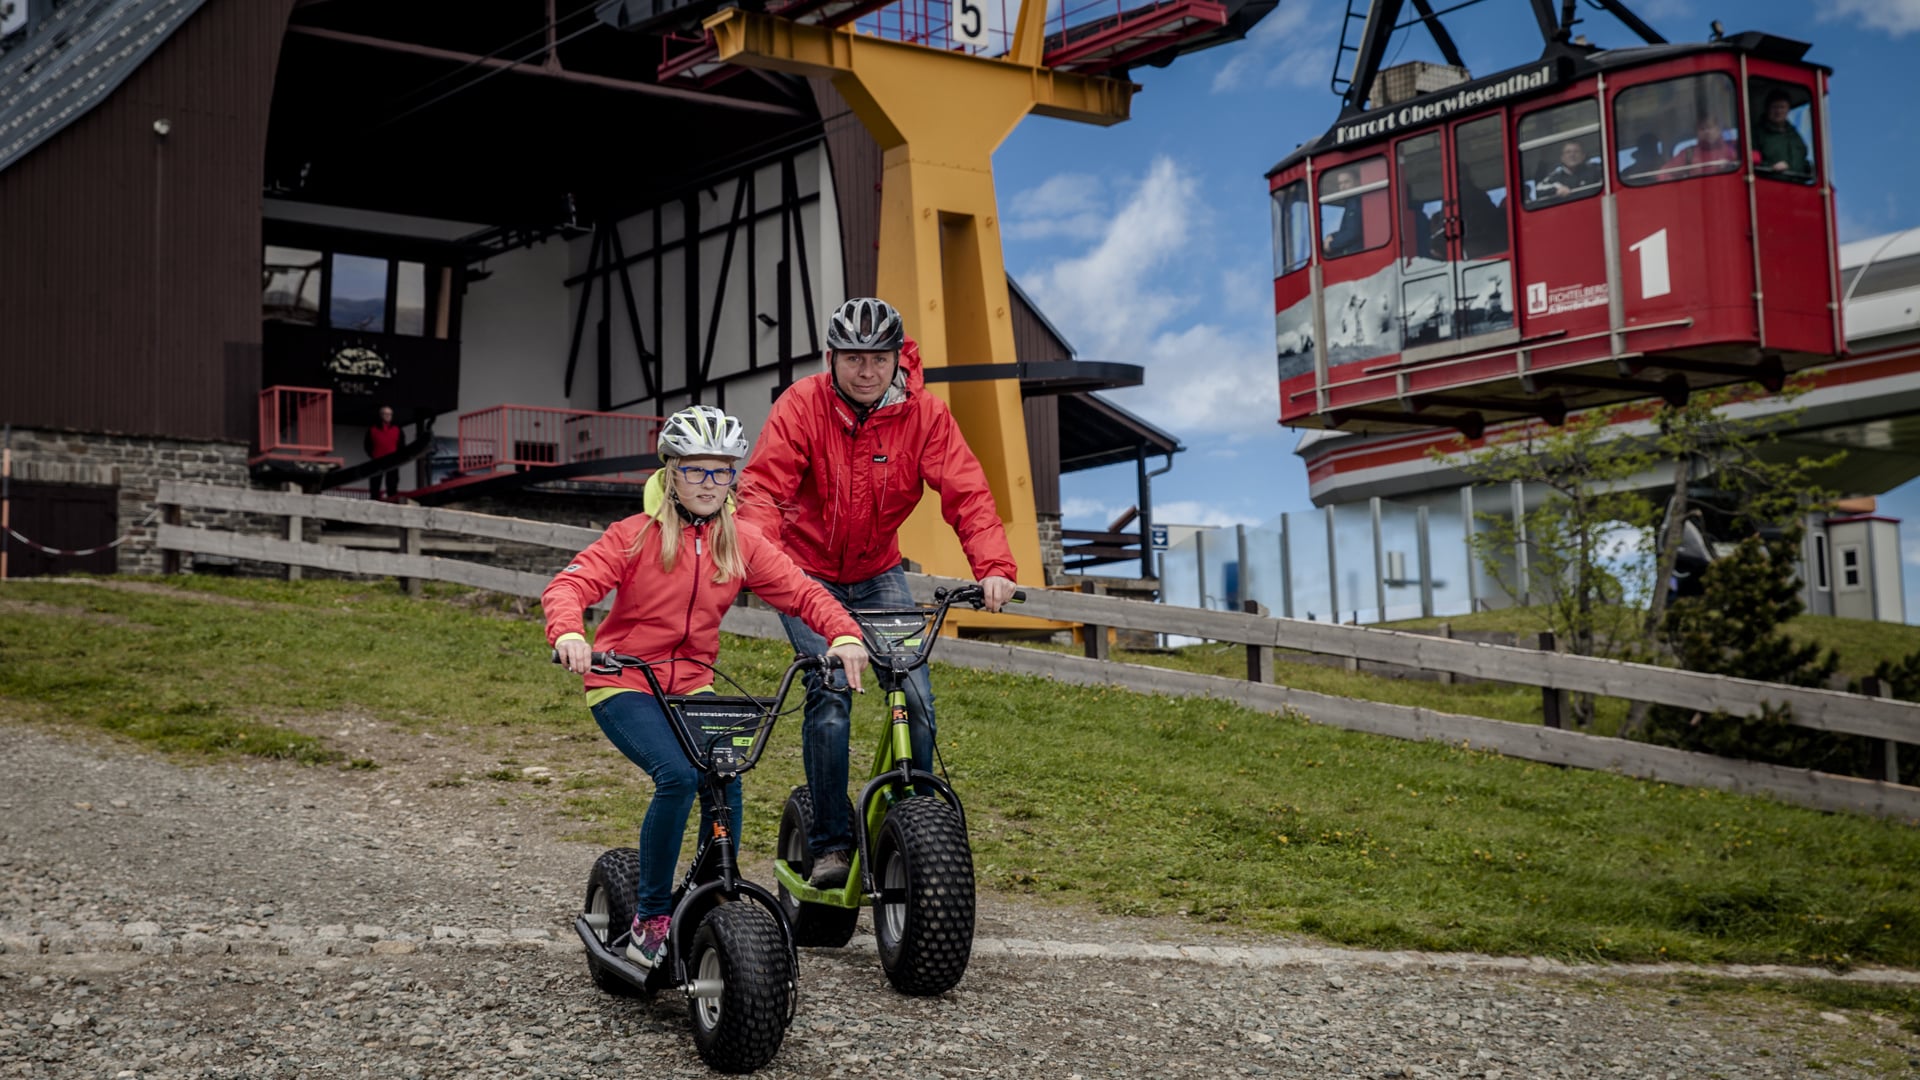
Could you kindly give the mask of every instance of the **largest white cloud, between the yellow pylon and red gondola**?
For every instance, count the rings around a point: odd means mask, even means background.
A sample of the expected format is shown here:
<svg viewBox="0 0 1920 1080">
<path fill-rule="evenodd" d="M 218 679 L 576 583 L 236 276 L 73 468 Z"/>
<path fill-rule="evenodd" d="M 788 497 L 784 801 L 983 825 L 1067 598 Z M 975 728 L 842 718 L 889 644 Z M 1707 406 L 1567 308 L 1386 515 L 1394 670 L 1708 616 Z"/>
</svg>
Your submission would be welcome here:
<svg viewBox="0 0 1920 1080">
<path fill-rule="evenodd" d="M 1121 407 L 1173 432 L 1269 432 L 1279 417 L 1271 294 L 1250 284 L 1256 269 L 1210 259 L 1198 181 L 1158 158 L 1085 254 L 1021 282 L 1083 356 L 1146 367 L 1144 386 L 1114 392 Z M 1192 263 L 1210 273 L 1187 273 Z M 1235 323 L 1194 321 L 1221 315 Z"/>
</svg>

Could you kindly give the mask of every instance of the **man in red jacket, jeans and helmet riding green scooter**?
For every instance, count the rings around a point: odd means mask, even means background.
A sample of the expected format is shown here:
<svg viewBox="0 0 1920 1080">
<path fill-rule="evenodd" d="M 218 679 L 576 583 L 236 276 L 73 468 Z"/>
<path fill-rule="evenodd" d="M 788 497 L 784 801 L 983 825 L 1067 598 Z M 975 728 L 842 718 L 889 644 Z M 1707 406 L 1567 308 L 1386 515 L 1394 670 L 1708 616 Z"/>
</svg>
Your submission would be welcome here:
<svg viewBox="0 0 1920 1080">
<path fill-rule="evenodd" d="M 960 536 L 973 578 L 998 611 L 1014 596 L 1014 553 L 987 473 L 960 436 L 947 402 L 925 392 L 920 348 L 885 300 L 849 300 L 828 319 L 828 369 L 774 402 L 741 475 L 741 519 L 778 536 L 787 555 L 841 603 L 912 607 L 899 530 L 924 486 Z M 826 642 L 783 619 L 795 651 Z M 914 763 L 933 769 L 933 684 L 914 673 L 906 692 Z M 801 753 L 812 788 L 806 836 L 814 888 L 847 884 L 852 813 L 847 799 L 847 717 L 852 698 L 806 676 Z"/>
</svg>

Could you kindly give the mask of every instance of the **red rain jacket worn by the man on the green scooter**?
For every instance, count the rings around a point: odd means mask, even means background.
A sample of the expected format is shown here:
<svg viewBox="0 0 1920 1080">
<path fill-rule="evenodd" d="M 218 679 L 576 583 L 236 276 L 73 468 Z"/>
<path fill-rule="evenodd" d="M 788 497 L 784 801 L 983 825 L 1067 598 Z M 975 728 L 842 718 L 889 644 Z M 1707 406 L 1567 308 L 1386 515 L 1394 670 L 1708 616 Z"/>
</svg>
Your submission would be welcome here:
<svg viewBox="0 0 1920 1080">
<path fill-rule="evenodd" d="M 826 371 L 787 386 L 741 473 L 741 517 L 778 534 L 808 575 L 851 584 L 900 565 L 899 530 L 925 484 L 939 492 L 973 578 L 1018 580 L 987 473 L 947 402 L 927 394 L 912 338 L 900 369 L 904 398 L 864 421 Z"/>
</svg>

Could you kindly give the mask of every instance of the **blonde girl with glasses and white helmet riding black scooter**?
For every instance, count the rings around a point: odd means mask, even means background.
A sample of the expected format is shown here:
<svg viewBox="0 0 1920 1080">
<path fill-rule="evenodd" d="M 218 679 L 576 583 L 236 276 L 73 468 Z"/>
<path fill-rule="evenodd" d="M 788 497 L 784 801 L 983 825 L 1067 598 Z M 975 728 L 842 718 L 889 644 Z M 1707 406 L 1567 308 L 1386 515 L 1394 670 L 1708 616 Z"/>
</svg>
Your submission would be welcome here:
<svg viewBox="0 0 1920 1080">
<path fill-rule="evenodd" d="M 588 607 L 618 590 L 593 644 L 657 661 L 653 675 L 668 694 L 712 690 L 708 665 L 720 651 L 720 617 L 741 586 L 818 632 L 816 655 L 839 657 L 854 688 L 866 669 L 860 628 L 847 609 L 756 527 L 735 519 L 733 477 L 745 455 L 747 436 L 739 421 L 724 411 L 693 405 L 668 417 L 660 427 L 664 467 L 647 480 L 643 513 L 612 523 L 540 594 L 547 644 L 566 671 L 586 676 L 588 705 L 601 732 L 653 778 L 653 801 L 639 826 L 639 888 L 626 947 L 628 959 L 641 967 L 659 963 L 666 945 L 674 865 L 699 773 L 674 740 L 666 713 L 645 680 L 622 678 L 624 671 L 589 671 Z M 826 638 L 831 638 L 831 648 Z M 728 805 L 733 807 L 737 838 L 739 780 L 728 786 Z M 701 836 L 712 828 L 714 817 L 714 807 L 701 805 Z"/>
</svg>

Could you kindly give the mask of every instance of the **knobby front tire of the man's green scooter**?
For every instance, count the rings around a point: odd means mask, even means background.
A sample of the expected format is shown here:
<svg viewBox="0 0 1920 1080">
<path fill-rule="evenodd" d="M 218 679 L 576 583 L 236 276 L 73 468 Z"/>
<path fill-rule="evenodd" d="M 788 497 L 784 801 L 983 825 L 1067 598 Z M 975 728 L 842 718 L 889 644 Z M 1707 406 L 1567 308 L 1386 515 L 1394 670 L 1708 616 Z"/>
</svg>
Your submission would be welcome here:
<svg viewBox="0 0 1920 1080">
<path fill-rule="evenodd" d="M 960 811 L 920 796 L 897 803 L 874 846 L 874 936 L 902 994 L 945 994 L 973 955 L 973 853 Z"/>
</svg>

